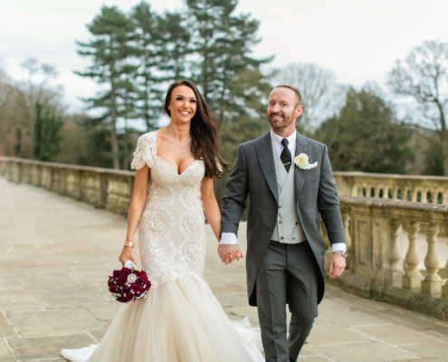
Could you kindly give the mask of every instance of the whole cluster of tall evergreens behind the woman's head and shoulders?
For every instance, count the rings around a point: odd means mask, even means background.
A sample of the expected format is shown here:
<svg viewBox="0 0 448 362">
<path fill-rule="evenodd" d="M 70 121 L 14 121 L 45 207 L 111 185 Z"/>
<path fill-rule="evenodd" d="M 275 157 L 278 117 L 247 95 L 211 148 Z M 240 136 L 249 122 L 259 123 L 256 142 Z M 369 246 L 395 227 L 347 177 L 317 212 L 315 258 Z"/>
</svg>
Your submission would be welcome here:
<svg viewBox="0 0 448 362">
<path fill-rule="evenodd" d="M 218 127 L 229 123 L 222 129 L 229 156 L 236 149 L 234 142 L 241 141 L 231 135 L 241 129 L 236 123 L 256 134 L 263 129 L 259 122 L 267 124 L 271 86 L 260 66 L 270 59 L 251 56 L 260 42 L 259 22 L 248 14 L 235 15 L 236 5 L 237 0 L 186 0 L 186 12 L 160 15 L 142 1 L 129 16 L 104 6 L 88 25 L 92 39 L 79 43 L 79 53 L 92 64 L 78 74 L 101 85 L 102 91 L 88 101 L 104 112 L 89 120 L 89 134 L 99 137 L 102 149 L 97 152 L 112 158 L 113 167 L 119 167 L 120 160 L 126 167 L 129 161 L 129 135 L 135 131 L 129 119 L 156 129 L 167 84 L 179 78 L 198 84 Z M 104 138 L 106 132 L 109 138 Z"/>
</svg>

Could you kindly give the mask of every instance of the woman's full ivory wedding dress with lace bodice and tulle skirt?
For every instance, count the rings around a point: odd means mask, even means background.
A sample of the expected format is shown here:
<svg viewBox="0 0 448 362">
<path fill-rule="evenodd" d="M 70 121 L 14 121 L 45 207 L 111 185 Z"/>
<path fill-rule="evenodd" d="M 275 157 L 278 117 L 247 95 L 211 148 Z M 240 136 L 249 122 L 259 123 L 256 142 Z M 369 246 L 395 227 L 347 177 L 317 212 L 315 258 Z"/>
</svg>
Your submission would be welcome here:
<svg viewBox="0 0 448 362">
<path fill-rule="evenodd" d="M 182 174 L 157 156 L 157 132 L 138 138 L 132 168 L 150 168 L 139 223 L 145 299 L 122 304 L 99 345 L 62 349 L 73 362 L 264 361 L 258 329 L 232 322 L 203 279 L 202 160 Z"/>
</svg>

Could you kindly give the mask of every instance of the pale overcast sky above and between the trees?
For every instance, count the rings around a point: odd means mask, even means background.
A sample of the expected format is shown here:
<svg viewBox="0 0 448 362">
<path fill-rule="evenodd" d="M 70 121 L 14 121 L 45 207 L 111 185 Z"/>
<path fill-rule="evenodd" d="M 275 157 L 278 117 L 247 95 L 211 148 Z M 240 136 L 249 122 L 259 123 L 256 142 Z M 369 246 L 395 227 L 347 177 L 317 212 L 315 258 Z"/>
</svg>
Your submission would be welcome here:
<svg viewBox="0 0 448 362">
<path fill-rule="evenodd" d="M 184 8 L 182 0 L 148 1 L 158 12 Z M 15 80 L 25 80 L 20 66 L 28 57 L 52 64 L 59 72 L 64 101 L 82 110 L 81 98 L 96 85 L 73 73 L 90 63 L 76 52 L 87 42 L 86 24 L 102 5 L 128 11 L 139 0 L 0 0 L 0 67 Z M 312 62 L 332 70 L 338 81 L 361 86 L 385 85 L 397 59 L 425 40 L 448 42 L 445 0 L 239 0 L 236 14 L 261 22 L 262 42 L 253 56 L 275 55 L 271 67 Z"/>
</svg>

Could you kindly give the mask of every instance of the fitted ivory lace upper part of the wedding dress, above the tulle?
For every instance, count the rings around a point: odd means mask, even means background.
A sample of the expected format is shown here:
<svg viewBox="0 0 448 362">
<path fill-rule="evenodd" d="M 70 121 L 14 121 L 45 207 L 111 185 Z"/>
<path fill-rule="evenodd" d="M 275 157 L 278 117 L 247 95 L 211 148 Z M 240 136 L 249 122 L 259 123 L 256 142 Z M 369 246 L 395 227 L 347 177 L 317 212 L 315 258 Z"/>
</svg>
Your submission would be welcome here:
<svg viewBox="0 0 448 362">
<path fill-rule="evenodd" d="M 148 196 L 139 224 L 142 269 L 152 288 L 186 274 L 202 277 L 205 263 L 205 218 L 200 186 L 202 160 L 182 174 L 157 156 L 157 132 L 138 138 L 131 168 L 150 168 Z M 201 278 L 202 280 L 202 278 Z"/>
</svg>

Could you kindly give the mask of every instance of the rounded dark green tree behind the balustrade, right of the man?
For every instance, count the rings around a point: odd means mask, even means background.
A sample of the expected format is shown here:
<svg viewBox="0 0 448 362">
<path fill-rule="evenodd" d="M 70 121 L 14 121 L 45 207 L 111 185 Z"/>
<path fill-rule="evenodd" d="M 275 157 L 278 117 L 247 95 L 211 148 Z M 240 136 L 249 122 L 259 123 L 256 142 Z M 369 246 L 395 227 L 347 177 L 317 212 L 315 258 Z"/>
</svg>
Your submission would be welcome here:
<svg viewBox="0 0 448 362">
<path fill-rule="evenodd" d="M 405 173 L 410 133 L 394 121 L 390 106 L 368 90 L 348 90 L 338 117 L 324 121 L 316 138 L 327 144 L 338 171 Z"/>
</svg>

